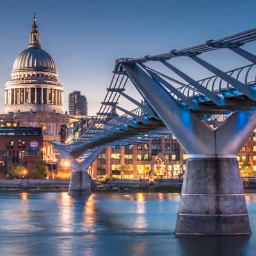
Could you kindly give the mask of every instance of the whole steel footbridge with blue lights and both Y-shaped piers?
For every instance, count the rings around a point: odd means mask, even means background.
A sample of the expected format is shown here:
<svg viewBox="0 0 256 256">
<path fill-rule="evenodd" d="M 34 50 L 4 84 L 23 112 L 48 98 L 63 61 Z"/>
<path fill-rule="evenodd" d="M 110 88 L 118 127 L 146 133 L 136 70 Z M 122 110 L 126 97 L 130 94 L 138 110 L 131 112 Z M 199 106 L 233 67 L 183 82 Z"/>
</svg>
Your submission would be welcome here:
<svg viewBox="0 0 256 256">
<path fill-rule="evenodd" d="M 256 128 L 256 56 L 244 49 L 255 40 L 256 28 L 185 49 L 116 60 L 106 97 L 88 130 L 69 145 L 52 141 L 72 164 L 68 193 L 91 192 L 88 168 L 107 145 L 172 132 L 188 154 L 175 234 L 250 234 L 236 155 Z M 223 71 L 204 60 L 210 51 L 232 51 L 248 63 Z M 175 58 L 212 76 L 197 81 L 173 64 Z M 135 86 L 143 101 L 127 93 L 127 84 Z M 118 103 L 124 99 L 137 108 L 122 108 Z M 225 115 L 217 129 L 205 122 L 211 115 Z"/>
</svg>

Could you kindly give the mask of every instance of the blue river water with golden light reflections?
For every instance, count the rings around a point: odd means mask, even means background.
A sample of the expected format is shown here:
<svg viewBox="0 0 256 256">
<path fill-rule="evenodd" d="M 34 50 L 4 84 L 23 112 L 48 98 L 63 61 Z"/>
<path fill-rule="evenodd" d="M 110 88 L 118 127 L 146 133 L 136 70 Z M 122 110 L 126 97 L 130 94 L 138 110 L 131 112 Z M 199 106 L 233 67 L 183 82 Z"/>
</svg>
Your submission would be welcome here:
<svg viewBox="0 0 256 256">
<path fill-rule="evenodd" d="M 256 255 L 256 194 L 246 195 L 252 236 L 174 236 L 179 194 L 0 195 L 0 256 Z"/>
</svg>

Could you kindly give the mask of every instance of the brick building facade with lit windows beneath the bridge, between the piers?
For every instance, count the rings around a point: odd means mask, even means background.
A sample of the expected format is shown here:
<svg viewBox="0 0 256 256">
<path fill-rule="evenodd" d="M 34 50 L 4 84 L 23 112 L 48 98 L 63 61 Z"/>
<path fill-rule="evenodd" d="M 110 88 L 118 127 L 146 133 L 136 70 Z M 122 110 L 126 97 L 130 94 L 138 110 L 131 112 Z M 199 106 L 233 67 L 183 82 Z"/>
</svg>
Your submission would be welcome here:
<svg viewBox="0 0 256 256">
<path fill-rule="evenodd" d="M 122 179 L 181 178 L 188 155 L 172 134 L 134 145 L 106 147 L 92 164 L 93 178 L 115 175 Z"/>
</svg>

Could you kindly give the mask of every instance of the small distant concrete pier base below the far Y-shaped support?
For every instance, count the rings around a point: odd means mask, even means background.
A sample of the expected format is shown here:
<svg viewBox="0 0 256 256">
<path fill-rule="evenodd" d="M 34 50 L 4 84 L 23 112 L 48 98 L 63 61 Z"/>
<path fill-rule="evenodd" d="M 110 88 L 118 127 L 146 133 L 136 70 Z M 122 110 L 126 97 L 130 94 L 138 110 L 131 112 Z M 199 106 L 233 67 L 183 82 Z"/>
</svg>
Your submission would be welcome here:
<svg viewBox="0 0 256 256">
<path fill-rule="evenodd" d="M 92 182 L 88 177 L 87 170 L 72 170 L 68 187 L 68 195 L 90 195 L 92 193 Z"/>
</svg>

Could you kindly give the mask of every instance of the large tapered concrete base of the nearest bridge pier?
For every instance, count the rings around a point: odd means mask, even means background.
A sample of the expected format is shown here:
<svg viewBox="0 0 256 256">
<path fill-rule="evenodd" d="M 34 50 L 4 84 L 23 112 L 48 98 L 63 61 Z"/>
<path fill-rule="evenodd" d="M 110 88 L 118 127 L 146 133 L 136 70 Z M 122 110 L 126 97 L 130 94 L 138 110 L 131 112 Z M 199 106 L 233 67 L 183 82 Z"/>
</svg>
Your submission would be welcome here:
<svg viewBox="0 0 256 256">
<path fill-rule="evenodd" d="M 236 158 L 187 160 L 175 234 L 251 234 Z"/>
</svg>

